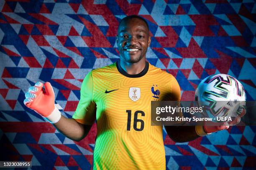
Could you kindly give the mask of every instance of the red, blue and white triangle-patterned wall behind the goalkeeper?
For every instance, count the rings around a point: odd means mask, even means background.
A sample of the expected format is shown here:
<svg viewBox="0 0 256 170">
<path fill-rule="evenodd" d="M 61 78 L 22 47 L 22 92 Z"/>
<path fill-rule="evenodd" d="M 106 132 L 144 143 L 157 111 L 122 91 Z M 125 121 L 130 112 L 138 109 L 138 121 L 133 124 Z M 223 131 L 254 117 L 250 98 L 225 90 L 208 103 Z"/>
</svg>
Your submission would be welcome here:
<svg viewBox="0 0 256 170">
<path fill-rule="evenodd" d="M 96 126 L 82 141 L 65 138 L 23 105 L 37 81 L 51 82 L 61 113 L 72 117 L 90 70 L 118 60 L 115 36 L 126 15 L 148 21 L 147 60 L 174 75 L 182 100 L 214 73 L 236 77 L 256 100 L 253 0 L 1 0 L 0 160 L 32 169 L 90 169 Z M 239 126 L 174 143 L 164 130 L 166 169 L 253 169 L 256 127 Z"/>
</svg>

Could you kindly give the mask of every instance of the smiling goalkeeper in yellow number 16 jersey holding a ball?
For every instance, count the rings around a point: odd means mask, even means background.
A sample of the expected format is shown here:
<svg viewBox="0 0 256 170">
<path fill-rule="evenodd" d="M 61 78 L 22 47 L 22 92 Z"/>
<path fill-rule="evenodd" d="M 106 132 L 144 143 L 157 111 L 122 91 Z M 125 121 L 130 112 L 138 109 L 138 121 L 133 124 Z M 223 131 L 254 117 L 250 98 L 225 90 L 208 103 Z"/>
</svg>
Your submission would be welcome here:
<svg viewBox="0 0 256 170">
<path fill-rule="evenodd" d="M 29 88 L 24 103 L 79 141 L 97 122 L 94 169 L 165 169 L 162 127 L 151 126 L 152 100 L 180 100 L 180 87 L 169 73 L 146 62 L 151 42 L 148 24 L 131 15 L 121 20 L 116 39 L 120 60 L 92 70 L 84 78 L 81 98 L 72 119 L 54 106 L 49 82 Z M 187 142 L 228 127 L 165 127 L 176 142 Z"/>
</svg>

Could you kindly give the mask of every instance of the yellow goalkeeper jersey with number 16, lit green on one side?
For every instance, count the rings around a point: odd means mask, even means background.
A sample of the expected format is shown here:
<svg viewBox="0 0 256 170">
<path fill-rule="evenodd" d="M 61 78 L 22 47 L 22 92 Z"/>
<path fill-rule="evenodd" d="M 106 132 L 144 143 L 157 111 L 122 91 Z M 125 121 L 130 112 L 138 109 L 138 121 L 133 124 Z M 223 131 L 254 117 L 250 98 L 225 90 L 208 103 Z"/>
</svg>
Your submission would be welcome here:
<svg viewBox="0 0 256 170">
<path fill-rule="evenodd" d="M 180 100 L 177 80 L 146 62 L 129 75 L 119 62 L 84 78 L 73 118 L 97 122 L 94 170 L 164 170 L 162 126 L 151 126 L 151 101 Z"/>
</svg>

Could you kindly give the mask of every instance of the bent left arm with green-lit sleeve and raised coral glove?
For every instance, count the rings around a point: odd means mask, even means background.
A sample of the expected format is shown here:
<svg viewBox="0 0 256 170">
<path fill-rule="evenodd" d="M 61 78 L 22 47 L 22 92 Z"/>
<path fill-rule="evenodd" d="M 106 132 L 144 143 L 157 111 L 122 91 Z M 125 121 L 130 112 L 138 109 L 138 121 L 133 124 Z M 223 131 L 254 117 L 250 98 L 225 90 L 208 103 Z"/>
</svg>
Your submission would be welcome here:
<svg viewBox="0 0 256 170">
<path fill-rule="evenodd" d="M 54 105 L 54 91 L 49 82 L 37 82 L 35 86 L 31 86 L 25 95 L 24 104 L 51 122 L 63 135 L 79 141 L 88 134 L 95 121 L 96 104 L 92 101 L 92 93 L 92 78 L 88 74 L 82 83 L 79 104 L 70 119 L 62 116 Z"/>
</svg>

